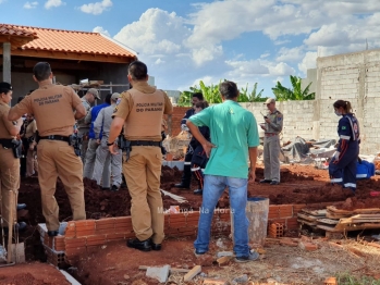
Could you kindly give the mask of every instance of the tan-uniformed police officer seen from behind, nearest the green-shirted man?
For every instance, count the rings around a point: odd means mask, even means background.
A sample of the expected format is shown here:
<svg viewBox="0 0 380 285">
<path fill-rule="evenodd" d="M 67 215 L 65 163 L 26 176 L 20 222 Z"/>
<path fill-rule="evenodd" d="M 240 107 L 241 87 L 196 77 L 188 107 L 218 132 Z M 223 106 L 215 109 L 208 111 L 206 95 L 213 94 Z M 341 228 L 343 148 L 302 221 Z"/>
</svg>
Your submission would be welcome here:
<svg viewBox="0 0 380 285">
<path fill-rule="evenodd" d="M 130 158 L 123 173 L 132 197 L 132 225 L 136 238 L 127 246 L 143 251 L 160 250 L 163 240 L 163 212 L 160 193 L 161 117 L 173 107 L 168 95 L 148 85 L 148 69 L 140 61 L 128 66 L 133 88 L 122 92 L 113 114 L 109 136 L 110 152 L 117 154 L 114 141 L 124 125 L 124 136 L 131 141 Z"/>
</svg>

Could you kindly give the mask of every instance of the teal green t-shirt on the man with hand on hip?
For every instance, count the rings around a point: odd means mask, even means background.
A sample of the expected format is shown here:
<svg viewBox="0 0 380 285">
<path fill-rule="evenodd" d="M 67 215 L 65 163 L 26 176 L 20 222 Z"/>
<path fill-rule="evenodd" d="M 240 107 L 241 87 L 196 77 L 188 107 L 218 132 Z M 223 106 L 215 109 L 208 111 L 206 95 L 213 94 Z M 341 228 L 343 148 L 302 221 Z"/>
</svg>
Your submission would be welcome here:
<svg viewBox="0 0 380 285">
<path fill-rule="evenodd" d="M 211 142 L 217 146 L 211 150 L 205 174 L 248 177 L 248 148 L 260 144 L 253 113 L 235 101 L 225 100 L 188 120 L 196 126 L 208 126 Z"/>
</svg>

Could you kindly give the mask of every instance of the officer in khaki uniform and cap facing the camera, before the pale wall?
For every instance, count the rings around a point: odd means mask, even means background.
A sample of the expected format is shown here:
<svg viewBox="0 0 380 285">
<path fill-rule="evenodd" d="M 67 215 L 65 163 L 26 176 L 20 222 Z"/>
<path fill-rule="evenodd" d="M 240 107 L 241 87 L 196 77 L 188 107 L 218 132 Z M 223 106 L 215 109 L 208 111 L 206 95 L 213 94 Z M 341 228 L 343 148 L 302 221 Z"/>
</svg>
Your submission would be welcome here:
<svg viewBox="0 0 380 285">
<path fill-rule="evenodd" d="M 268 108 L 268 114 L 263 117 L 266 125 L 261 126 L 265 131 L 263 138 L 263 179 L 260 183 L 270 183 L 270 185 L 280 184 L 280 137 L 282 131 L 283 115 L 275 109 L 275 100 L 268 98 L 265 102 Z"/>
</svg>

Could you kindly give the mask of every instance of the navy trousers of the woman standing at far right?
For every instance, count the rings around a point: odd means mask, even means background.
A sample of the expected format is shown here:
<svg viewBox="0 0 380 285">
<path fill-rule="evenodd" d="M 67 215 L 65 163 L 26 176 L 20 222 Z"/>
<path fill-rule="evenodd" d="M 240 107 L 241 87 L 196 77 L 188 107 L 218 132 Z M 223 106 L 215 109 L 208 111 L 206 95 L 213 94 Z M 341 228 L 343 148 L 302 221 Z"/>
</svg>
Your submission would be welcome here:
<svg viewBox="0 0 380 285">
<path fill-rule="evenodd" d="M 343 153 L 344 152 L 344 153 Z M 339 159 L 333 158 L 329 164 L 329 174 L 332 183 L 341 184 L 344 188 L 356 189 L 356 163 L 359 147 L 351 141 Z"/>
</svg>

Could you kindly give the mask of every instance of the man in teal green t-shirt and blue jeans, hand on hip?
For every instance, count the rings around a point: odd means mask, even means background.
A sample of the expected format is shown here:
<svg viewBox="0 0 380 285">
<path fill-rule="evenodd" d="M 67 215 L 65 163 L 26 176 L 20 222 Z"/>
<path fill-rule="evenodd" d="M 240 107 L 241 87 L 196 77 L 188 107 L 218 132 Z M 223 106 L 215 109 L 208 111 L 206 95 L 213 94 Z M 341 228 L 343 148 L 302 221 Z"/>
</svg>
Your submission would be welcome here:
<svg viewBox="0 0 380 285">
<path fill-rule="evenodd" d="M 255 116 L 237 103 L 236 84 L 223 82 L 219 91 L 223 103 L 205 109 L 189 117 L 186 123 L 209 157 L 204 172 L 204 197 L 199 210 L 198 236 L 194 243 L 195 253 L 198 256 L 208 251 L 213 210 L 225 187 L 229 187 L 234 218 L 235 260 L 246 262 L 258 258 L 257 252 L 249 250 L 245 207 L 247 183 L 255 182 L 259 136 Z M 200 134 L 198 126 L 210 128 L 211 142 Z"/>
</svg>

